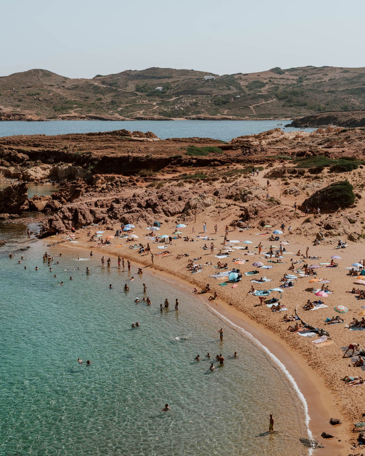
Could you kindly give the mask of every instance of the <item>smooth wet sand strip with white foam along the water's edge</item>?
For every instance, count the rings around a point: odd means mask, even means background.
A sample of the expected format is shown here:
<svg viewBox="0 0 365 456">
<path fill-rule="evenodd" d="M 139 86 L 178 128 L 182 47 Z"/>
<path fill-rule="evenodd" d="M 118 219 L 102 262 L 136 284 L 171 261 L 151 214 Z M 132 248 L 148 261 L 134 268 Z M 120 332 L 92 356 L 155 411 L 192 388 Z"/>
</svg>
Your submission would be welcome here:
<svg viewBox="0 0 365 456">
<path fill-rule="evenodd" d="M 43 239 L 46 241 L 46 239 Z M 91 250 L 87 245 L 76 246 L 68 242 L 57 244 L 49 247 L 58 247 L 60 249 L 68 250 Z M 103 254 L 107 253 L 110 257 L 117 258 L 117 255 L 112 251 L 93 250 L 93 256 L 102 257 Z M 147 274 L 160 276 L 162 279 L 172 282 L 176 287 L 182 288 L 184 291 L 191 292 L 191 285 L 188 280 L 184 280 L 177 277 L 172 272 L 166 270 L 157 269 L 156 266 L 150 266 L 143 263 L 138 263 L 134 258 L 126 254 L 123 255 L 125 259 L 130 259 L 132 264 L 137 267 L 147 269 Z M 152 269 L 153 268 L 153 269 Z M 213 306 L 213 301 L 203 300 L 203 295 L 197 296 L 202 304 L 209 308 L 223 320 L 226 320 L 229 325 L 235 327 L 240 332 L 243 332 L 245 337 L 248 337 L 252 343 L 258 346 L 261 350 L 264 350 L 273 359 L 277 367 L 282 370 L 288 383 L 295 390 L 298 399 L 302 402 L 302 408 L 304 412 L 305 423 L 307 426 L 308 438 L 313 438 L 322 443 L 324 448 L 316 450 L 316 454 L 321 456 L 333 456 L 334 452 L 339 456 L 347 456 L 348 451 L 345 450 L 344 444 L 346 443 L 349 436 L 346 433 L 345 428 L 339 428 L 339 426 L 332 426 L 329 424 L 331 417 L 340 418 L 345 424 L 345 420 L 341 413 L 334 404 L 334 398 L 331 397 L 331 392 L 323 384 L 322 378 L 320 378 L 306 363 L 305 359 L 301 357 L 300 353 L 295 352 L 289 347 L 285 341 L 277 337 L 275 334 L 264 328 L 257 321 L 253 321 L 244 312 L 235 309 L 233 306 L 229 306 L 225 301 L 218 299 L 214 301 L 216 303 Z M 270 347 L 270 349 L 269 349 Z M 299 363 L 297 358 L 302 358 L 302 363 Z M 336 432 L 334 432 L 336 430 Z M 336 434 L 334 439 L 325 440 L 320 438 L 322 432 L 328 432 Z M 312 434 L 312 435 L 311 435 Z M 341 440 L 339 442 L 338 440 Z M 308 449 L 308 454 L 313 454 L 314 450 Z"/>
</svg>

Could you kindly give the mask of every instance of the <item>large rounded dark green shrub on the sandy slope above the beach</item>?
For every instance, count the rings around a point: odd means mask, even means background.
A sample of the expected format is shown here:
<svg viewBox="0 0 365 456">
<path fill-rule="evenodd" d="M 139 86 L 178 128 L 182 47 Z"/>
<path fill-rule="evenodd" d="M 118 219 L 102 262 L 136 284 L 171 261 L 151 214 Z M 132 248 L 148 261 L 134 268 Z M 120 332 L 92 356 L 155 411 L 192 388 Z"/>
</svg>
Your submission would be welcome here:
<svg viewBox="0 0 365 456">
<path fill-rule="evenodd" d="M 355 202 L 353 188 L 349 181 L 334 182 L 314 192 L 303 202 L 303 206 L 320 207 L 331 211 L 339 207 L 349 207 Z"/>
</svg>

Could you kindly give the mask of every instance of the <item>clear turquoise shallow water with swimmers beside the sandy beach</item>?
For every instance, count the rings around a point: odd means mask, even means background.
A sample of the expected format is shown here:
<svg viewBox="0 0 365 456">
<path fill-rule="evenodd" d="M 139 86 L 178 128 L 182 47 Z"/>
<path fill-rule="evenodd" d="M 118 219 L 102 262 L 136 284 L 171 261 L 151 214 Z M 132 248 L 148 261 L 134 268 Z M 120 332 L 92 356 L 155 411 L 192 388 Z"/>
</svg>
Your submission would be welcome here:
<svg viewBox="0 0 365 456">
<path fill-rule="evenodd" d="M 51 272 L 45 244 L 16 251 L 27 244 L 0 250 L 1 455 L 307 454 L 302 404 L 282 371 L 189 290 L 133 265 L 120 271 L 114 259 L 103 269 L 96 256 L 58 258 L 57 247 L 46 248 Z M 152 306 L 134 302 L 143 282 Z M 171 308 L 161 312 L 165 297 Z M 212 362 L 223 353 L 224 367 L 209 372 L 207 351 Z M 79 366 L 78 357 L 93 363 Z M 165 402 L 171 412 L 160 411 Z M 270 412 L 281 432 L 259 436 Z"/>
</svg>

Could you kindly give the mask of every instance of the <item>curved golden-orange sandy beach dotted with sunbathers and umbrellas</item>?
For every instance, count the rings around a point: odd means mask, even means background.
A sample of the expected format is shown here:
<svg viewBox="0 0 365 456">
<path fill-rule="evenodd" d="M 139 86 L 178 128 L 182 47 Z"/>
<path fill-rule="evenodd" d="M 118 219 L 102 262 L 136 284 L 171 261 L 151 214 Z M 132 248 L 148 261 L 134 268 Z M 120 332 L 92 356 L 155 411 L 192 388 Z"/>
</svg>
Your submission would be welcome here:
<svg viewBox="0 0 365 456">
<path fill-rule="evenodd" d="M 303 311 L 302 306 L 308 299 L 313 299 L 313 294 L 310 291 L 306 291 L 312 284 L 308 284 L 310 277 L 301 277 L 298 275 L 298 279 L 292 289 L 285 290 L 282 293 L 281 303 L 287 307 L 287 311 L 283 312 L 271 312 L 266 306 L 258 306 L 259 298 L 252 296 L 247 292 L 250 290 L 251 282 L 250 276 L 243 276 L 242 281 L 238 284 L 238 287 L 232 288 L 232 284 L 228 286 L 219 286 L 219 283 L 228 280 L 224 278 L 217 280 L 209 277 L 215 273 L 213 265 L 217 264 L 218 259 L 214 257 L 214 254 L 210 254 L 210 249 L 204 250 L 204 244 L 209 245 L 210 242 L 214 242 L 215 246 L 223 247 L 220 245 L 224 238 L 224 221 L 218 223 L 219 232 L 214 234 L 215 220 L 213 218 L 197 218 L 196 223 L 189 223 L 187 228 L 182 228 L 184 234 L 192 237 L 191 231 L 194 226 L 195 233 L 193 236 L 199 235 L 203 232 L 203 223 L 206 222 L 208 235 L 213 238 L 214 241 L 204 241 L 194 238 L 194 242 L 184 242 L 183 239 L 176 239 L 172 241 L 172 244 L 166 244 L 167 249 L 171 254 L 166 256 L 157 255 L 159 253 L 158 246 L 165 244 L 158 243 L 153 244 L 151 240 L 145 239 L 148 231 L 143 228 L 134 228 L 133 232 L 139 237 L 135 239 L 136 243 L 142 243 L 146 247 L 147 242 L 150 243 L 151 251 L 154 253 L 154 265 L 151 264 L 151 255 L 149 254 L 138 254 L 138 249 L 130 249 L 130 244 L 125 243 L 124 239 L 114 238 L 111 239 L 111 244 L 105 247 L 95 247 L 94 244 L 89 242 L 87 236 L 88 229 L 79 229 L 75 233 L 76 243 L 67 243 L 68 248 L 79 249 L 85 248 L 89 251 L 93 250 L 93 255 L 97 255 L 101 258 L 102 255 L 107 259 L 111 257 L 112 267 L 117 266 L 117 260 L 115 256 L 118 254 L 125 259 L 130 259 L 132 272 L 137 272 L 137 267 L 145 266 L 144 271 L 148 273 L 168 275 L 168 277 L 178 285 L 190 286 L 191 290 L 193 286 L 196 286 L 198 290 L 209 283 L 212 287 L 212 291 L 217 291 L 219 299 L 214 301 L 208 301 L 210 293 L 199 295 L 199 297 L 205 303 L 209 304 L 215 311 L 218 311 L 221 315 L 226 317 L 229 321 L 237 326 L 242 327 L 247 332 L 252 334 L 259 342 L 265 345 L 276 358 L 278 358 L 287 368 L 288 372 L 292 375 L 298 388 L 304 395 L 307 404 L 310 421 L 310 429 L 313 436 L 324 444 L 325 448 L 318 450 L 320 454 L 332 455 L 334 451 L 339 455 L 347 455 L 348 450 L 352 446 L 349 441 L 355 440 L 356 434 L 352 433 L 353 423 L 361 421 L 362 409 L 361 399 L 364 398 L 364 392 L 362 387 L 349 387 L 341 381 L 345 375 L 356 375 L 358 374 L 359 368 L 349 367 L 351 359 L 342 358 L 343 352 L 341 347 L 348 345 L 351 342 L 361 342 L 361 333 L 349 331 L 345 328 L 345 324 L 349 323 L 353 316 L 356 316 L 360 312 L 360 302 L 355 299 L 355 296 L 349 293 L 345 293 L 345 290 L 351 290 L 355 278 L 347 276 L 348 270 L 346 266 L 352 264 L 359 255 L 353 246 L 346 249 L 334 249 L 333 245 L 319 245 L 310 246 L 300 236 L 295 234 L 282 235 L 281 239 L 289 244 L 285 245 L 288 252 L 285 255 L 282 264 L 275 264 L 272 269 L 260 269 L 262 275 L 270 278 L 272 282 L 268 282 L 269 285 L 265 284 L 254 284 L 256 290 L 263 290 L 266 288 L 274 288 L 280 285 L 280 279 L 284 273 L 289 273 L 288 267 L 290 266 L 289 259 L 299 259 L 295 254 L 300 249 L 301 252 L 305 252 L 307 246 L 310 247 L 309 254 L 315 254 L 320 258 L 318 260 L 308 260 L 308 264 L 313 261 L 321 263 L 329 263 L 330 256 L 339 254 L 341 260 L 338 260 L 339 266 L 336 268 L 327 268 L 323 266 L 321 269 L 317 269 L 318 276 L 320 278 L 327 278 L 330 280 L 330 289 L 334 291 L 328 298 L 322 298 L 325 305 L 328 307 L 316 309 L 314 311 Z M 93 228 L 93 227 L 91 227 Z M 115 229 L 119 228 L 115 225 Z M 94 228 L 95 231 L 98 228 Z M 175 224 L 163 224 L 159 233 L 171 234 L 175 230 Z M 238 266 L 242 272 L 247 272 L 252 269 L 252 263 L 258 261 L 262 257 L 262 253 L 268 250 L 270 245 L 269 241 L 265 241 L 269 236 L 256 236 L 257 229 L 245 230 L 243 232 L 233 231 L 230 227 L 228 239 L 230 240 L 251 240 L 253 244 L 249 244 L 251 250 L 255 250 L 255 246 L 258 242 L 266 247 L 258 254 L 257 249 L 253 255 L 245 255 L 244 250 L 236 250 L 229 252 L 230 257 L 224 259 L 228 263 L 228 270 L 230 270 L 234 264 L 234 258 L 248 259 L 244 265 Z M 92 232 L 94 233 L 94 232 Z M 105 238 L 108 235 L 114 235 L 113 231 L 105 231 L 102 236 Z M 201 234 L 200 234 L 201 235 Z M 259 239 L 259 240 L 258 240 Z M 261 240 L 264 239 L 264 240 Z M 54 242 L 61 240 L 61 236 L 57 236 Z M 124 246 L 121 247 L 121 245 Z M 228 243 L 227 243 L 228 244 Z M 274 244 L 274 243 L 273 243 Z M 234 244 L 231 244 L 234 245 Z M 238 243 L 236 243 L 238 245 Z M 244 246 L 246 244 L 239 245 Z M 274 245 L 278 245 L 276 242 Z M 60 244 L 58 248 L 63 248 L 65 244 Z M 163 252 L 165 249 L 161 249 Z M 232 249 L 234 250 L 234 249 Z M 218 253 L 218 251 L 214 252 Z M 177 259 L 177 254 L 188 254 L 188 257 Z M 187 270 L 188 259 L 198 258 L 199 261 L 194 263 L 204 264 L 206 262 L 212 262 L 213 265 L 204 266 L 201 272 L 192 274 Z M 264 264 L 270 264 L 267 260 L 261 259 Z M 312 263 L 311 263 L 312 264 Z M 222 269 L 223 270 L 223 269 Z M 253 278 L 260 278 L 260 276 L 254 276 Z M 188 285 L 189 284 L 189 285 Z M 212 293 L 213 294 L 213 293 Z M 343 305 L 349 308 L 349 312 L 344 315 L 345 323 L 326 325 L 324 326 L 324 320 L 326 317 L 332 317 L 337 315 L 334 311 L 334 306 Z M 318 339 L 316 337 L 301 337 L 297 333 L 286 331 L 288 323 L 282 321 L 284 314 L 292 315 L 297 307 L 297 312 L 306 323 L 314 327 L 323 327 L 330 333 L 330 342 L 324 344 L 324 346 L 317 346 L 313 343 L 313 340 Z M 342 315 L 343 316 L 343 315 Z M 331 417 L 340 418 L 343 420 L 341 426 L 331 426 L 329 419 Z M 324 440 L 320 437 L 322 432 L 328 432 L 334 435 L 335 439 Z M 339 442 L 340 440 L 340 442 Z"/>
</svg>

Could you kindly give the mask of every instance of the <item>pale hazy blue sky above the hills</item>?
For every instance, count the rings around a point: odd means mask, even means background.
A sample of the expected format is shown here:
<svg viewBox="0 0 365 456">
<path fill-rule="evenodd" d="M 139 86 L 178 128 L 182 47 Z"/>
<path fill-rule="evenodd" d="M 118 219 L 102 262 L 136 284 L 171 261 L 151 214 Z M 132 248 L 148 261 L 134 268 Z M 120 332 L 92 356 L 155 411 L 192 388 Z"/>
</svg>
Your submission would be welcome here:
<svg viewBox="0 0 365 456">
<path fill-rule="evenodd" d="M 365 2 L 0 0 L 0 75 L 365 66 Z"/>
</svg>

